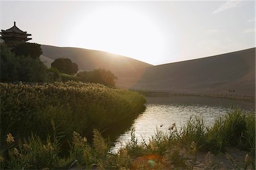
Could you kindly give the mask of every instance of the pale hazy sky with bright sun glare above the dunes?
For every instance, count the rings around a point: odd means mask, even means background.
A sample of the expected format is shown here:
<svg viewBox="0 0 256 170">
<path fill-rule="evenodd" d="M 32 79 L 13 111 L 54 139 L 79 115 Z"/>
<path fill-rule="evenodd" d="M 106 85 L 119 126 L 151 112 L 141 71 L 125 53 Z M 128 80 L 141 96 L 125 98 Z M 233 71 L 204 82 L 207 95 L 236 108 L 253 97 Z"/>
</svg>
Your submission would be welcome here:
<svg viewBox="0 0 256 170">
<path fill-rule="evenodd" d="M 30 42 L 108 51 L 150 64 L 255 47 L 255 1 L 2 1 L 1 29 Z"/>
</svg>

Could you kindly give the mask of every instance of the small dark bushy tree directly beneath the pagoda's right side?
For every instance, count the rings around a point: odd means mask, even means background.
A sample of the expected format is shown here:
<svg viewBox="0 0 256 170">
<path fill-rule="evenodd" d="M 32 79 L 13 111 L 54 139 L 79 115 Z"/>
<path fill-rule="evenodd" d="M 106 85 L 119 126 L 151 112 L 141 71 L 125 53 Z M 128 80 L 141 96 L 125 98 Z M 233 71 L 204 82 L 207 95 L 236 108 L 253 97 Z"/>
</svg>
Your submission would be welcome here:
<svg viewBox="0 0 256 170">
<path fill-rule="evenodd" d="M 39 59 L 43 53 L 41 45 L 36 43 L 18 44 L 14 47 L 13 52 L 16 56 L 30 56 L 32 59 Z"/>
</svg>

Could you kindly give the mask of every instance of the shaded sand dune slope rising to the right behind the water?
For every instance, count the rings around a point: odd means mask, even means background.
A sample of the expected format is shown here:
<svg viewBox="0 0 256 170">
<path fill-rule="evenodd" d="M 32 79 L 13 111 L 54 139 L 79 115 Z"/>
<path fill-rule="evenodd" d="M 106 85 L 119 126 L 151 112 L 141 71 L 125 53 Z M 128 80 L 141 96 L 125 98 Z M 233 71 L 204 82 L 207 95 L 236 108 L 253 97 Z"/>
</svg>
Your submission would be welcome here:
<svg viewBox="0 0 256 170">
<path fill-rule="evenodd" d="M 131 89 L 255 96 L 255 48 L 149 67 Z"/>
</svg>

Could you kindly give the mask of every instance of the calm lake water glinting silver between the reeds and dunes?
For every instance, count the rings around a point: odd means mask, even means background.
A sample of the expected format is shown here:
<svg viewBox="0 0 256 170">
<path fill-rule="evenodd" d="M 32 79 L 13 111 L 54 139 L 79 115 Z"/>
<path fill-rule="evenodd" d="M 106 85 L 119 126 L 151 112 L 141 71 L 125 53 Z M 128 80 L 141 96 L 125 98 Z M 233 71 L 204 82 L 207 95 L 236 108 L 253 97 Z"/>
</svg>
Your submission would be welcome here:
<svg viewBox="0 0 256 170">
<path fill-rule="evenodd" d="M 231 107 L 255 113 L 255 102 L 240 99 L 171 96 L 147 97 L 146 110 L 133 120 L 122 122 L 118 127 L 110 128 L 110 139 L 114 141 L 112 152 L 131 139 L 131 129 L 135 128 L 138 141 L 148 140 L 155 134 L 156 128 L 166 131 L 172 123 L 180 129 L 191 115 L 202 117 L 207 125 L 212 125 L 214 119 L 226 113 Z M 161 127 L 160 127 L 161 126 Z"/>
</svg>

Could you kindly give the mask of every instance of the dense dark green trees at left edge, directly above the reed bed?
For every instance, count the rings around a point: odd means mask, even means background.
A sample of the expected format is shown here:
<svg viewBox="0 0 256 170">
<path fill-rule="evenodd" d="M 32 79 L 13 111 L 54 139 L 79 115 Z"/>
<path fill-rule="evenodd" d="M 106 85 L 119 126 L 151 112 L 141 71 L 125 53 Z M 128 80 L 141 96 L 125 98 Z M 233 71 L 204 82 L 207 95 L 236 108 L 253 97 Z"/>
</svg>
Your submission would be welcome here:
<svg viewBox="0 0 256 170">
<path fill-rule="evenodd" d="M 47 82 L 46 66 L 38 59 L 15 56 L 6 45 L 1 45 L 1 82 Z"/>
</svg>

